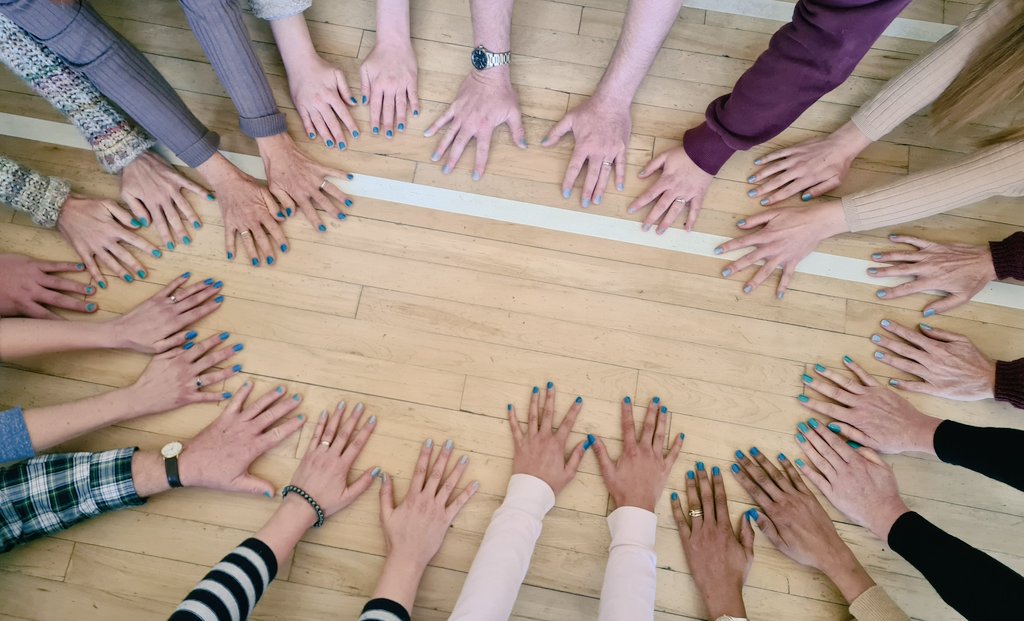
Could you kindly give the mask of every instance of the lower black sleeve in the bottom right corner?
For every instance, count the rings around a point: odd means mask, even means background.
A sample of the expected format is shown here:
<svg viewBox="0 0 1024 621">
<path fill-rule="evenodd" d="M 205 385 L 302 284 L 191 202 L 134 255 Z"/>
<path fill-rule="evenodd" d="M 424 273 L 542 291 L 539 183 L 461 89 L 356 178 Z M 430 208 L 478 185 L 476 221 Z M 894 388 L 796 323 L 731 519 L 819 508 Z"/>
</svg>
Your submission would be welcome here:
<svg viewBox="0 0 1024 621">
<path fill-rule="evenodd" d="M 889 547 L 925 575 L 942 597 L 968 619 L 1019 619 L 1024 578 L 981 550 L 913 511 L 889 531 Z"/>
</svg>

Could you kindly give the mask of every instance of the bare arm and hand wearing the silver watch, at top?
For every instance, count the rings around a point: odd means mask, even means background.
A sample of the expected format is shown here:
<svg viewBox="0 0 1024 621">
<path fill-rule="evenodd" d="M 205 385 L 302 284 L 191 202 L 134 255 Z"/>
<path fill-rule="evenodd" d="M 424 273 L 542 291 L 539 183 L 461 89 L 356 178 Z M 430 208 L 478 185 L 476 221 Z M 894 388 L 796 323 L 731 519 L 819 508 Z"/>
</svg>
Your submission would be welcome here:
<svg viewBox="0 0 1024 621">
<path fill-rule="evenodd" d="M 496 53 L 511 50 L 512 0 L 470 0 L 470 10 L 476 45 L 482 45 Z M 508 65 L 484 70 L 470 69 L 470 74 L 463 80 L 459 93 L 447 111 L 423 133 L 430 137 L 449 123 L 452 124 L 430 156 L 436 162 L 449 152 L 447 163 L 441 168 L 441 172 L 452 172 L 469 141 L 475 138 L 473 179 L 479 179 L 487 165 L 490 138 L 495 129 L 503 123 L 507 123 L 512 132 L 513 143 L 520 149 L 526 148 L 522 113 L 519 111 L 515 89 L 512 88 L 511 76 Z"/>
</svg>

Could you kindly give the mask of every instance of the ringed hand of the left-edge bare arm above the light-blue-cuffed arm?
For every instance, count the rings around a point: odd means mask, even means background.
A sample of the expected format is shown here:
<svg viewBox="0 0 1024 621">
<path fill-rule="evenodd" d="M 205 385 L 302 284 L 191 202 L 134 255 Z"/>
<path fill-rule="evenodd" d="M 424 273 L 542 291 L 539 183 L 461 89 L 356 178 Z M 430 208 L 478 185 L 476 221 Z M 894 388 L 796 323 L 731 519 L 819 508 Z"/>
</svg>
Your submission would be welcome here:
<svg viewBox="0 0 1024 621">
<path fill-rule="evenodd" d="M 222 283 L 212 278 L 185 287 L 191 277 L 185 273 L 156 295 L 128 313 L 108 322 L 111 337 L 121 349 L 139 354 L 162 354 L 196 338 L 196 332 L 181 332 L 220 307 Z"/>
</svg>

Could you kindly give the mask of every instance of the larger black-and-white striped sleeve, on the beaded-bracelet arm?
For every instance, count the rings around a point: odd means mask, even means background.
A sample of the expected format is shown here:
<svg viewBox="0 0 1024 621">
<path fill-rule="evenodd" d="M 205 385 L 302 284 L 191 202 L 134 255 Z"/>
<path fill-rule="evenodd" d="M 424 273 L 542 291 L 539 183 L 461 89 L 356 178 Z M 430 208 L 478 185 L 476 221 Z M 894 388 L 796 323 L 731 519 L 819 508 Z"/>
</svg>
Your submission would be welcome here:
<svg viewBox="0 0 1024 621">
<path fill-rule="evenodd" d="M 196 585 L 170 621 L 244 621 L 276 575 L 273 551 L 246 539 Z"/>
</svg>

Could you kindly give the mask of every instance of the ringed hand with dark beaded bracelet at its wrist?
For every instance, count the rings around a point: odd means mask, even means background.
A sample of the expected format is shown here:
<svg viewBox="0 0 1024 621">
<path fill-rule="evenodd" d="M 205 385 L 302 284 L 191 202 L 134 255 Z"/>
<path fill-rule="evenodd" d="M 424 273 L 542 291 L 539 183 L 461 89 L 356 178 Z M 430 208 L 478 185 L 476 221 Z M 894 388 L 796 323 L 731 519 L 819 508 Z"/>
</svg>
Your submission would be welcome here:
<svg viewBox="0 0 1024 621">
<path fill-rule="evenodd" d="M 292 485 L 312 496 L 327 518 L 355 502 L 370 489 L 375 474 L 380 472 L 380 468 L 371 468 L 355 482 L 348 483 L 352 465 L 377 428 L 377 417 L 371 416 L 356 431 L 355 427 L 362 418 L 362 404 L 355 404 L 347 419 L 345 409 L 345 402 L 338 404 L 330 420 L 327 410 L 321 413 L 316 429 L 309 440 L 309 448 L 292 475 Z M 304 501 L 303 504 L 315 520 L 312 507 Z"/>
</svg>

